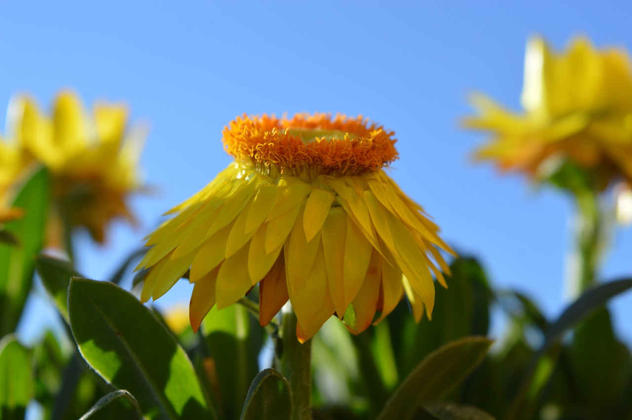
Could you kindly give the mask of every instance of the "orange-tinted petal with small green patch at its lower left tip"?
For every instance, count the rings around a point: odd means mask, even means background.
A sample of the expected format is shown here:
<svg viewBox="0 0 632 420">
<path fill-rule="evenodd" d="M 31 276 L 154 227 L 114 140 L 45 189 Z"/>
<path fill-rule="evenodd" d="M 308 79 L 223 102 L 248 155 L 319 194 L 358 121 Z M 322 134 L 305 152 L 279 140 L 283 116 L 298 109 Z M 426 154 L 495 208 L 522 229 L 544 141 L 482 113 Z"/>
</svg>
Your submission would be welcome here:
<svg viewBox="0 0 632 420">
<path fill-rule="evenodd" d="M 380 296 L 380 278 L 382 277 L 382 256 L 373 249 L 371 260 L 367 270 L 367 276 L 362 282 L 362 287 L 353 299 L 353 309 L 356 314 L 356 329 L 347 329 L 352 333 L 361 333 L 373 322 L 377 301 Z"/>
</svg>

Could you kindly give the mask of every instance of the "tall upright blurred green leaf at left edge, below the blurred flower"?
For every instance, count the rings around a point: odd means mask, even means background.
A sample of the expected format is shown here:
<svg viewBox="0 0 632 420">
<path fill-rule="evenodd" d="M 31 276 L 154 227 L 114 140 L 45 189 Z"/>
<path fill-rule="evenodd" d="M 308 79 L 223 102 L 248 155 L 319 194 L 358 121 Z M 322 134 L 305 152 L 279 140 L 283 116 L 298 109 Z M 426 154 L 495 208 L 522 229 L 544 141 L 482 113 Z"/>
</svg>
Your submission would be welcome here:
<svg viewBox="0 0 632 420">
<path fill-rule="evenodd" d="M 44 244 L 49 188 L 46 169 L 35 172 L 13 201 L 23 217 L 4 225 L 19 245 L 0 243 L 0 337 L 15 330 L 31 288 L 33 256 Z"/>
</svg>

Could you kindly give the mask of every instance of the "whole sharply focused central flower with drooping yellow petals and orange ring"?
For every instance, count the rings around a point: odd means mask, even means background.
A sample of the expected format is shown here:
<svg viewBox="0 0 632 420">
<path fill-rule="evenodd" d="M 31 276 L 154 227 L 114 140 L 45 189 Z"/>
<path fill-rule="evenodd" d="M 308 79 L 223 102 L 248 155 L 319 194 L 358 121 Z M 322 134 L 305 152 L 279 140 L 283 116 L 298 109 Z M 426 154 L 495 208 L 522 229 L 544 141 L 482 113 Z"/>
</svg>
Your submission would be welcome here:
<svg viewBox="0 0 632 420">
<path fill-rule="evenodd" d="M 424 305 L 431 313 L 431 270 L 443 285 L 448 272 L 435 246 L 451 249 L 382 170 L 398 157 L 393 133 L 362 117 L 299 114 L 238 118 L 223 135 L 235 162 L 147 241 L 143 302 L 190 267 L 195 331 L 214 304 L 225 308 L 257 283 L 261 325 L 289 298 L 301 342 L 349 305 L 353 332 L 365 330 L 404 290 L 417 320 Z"/>
</svg>

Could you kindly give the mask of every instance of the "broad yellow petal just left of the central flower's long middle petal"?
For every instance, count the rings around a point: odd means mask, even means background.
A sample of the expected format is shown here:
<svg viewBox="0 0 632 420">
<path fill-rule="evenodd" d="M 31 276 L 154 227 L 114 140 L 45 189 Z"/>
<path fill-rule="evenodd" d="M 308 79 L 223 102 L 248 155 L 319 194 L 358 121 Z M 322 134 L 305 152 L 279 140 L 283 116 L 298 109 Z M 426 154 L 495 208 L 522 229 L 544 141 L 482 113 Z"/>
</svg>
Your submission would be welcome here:
<svg viewBox="0 0 632 420">
<path fill-rule="evenodd" d="M 300 208 L 296 222 L 286 241 L 286 275 L 289 287 L 294 293 L 298 292 L 310 278 L 312 265 L 320 245 L 320 231 L 311 241 L 307 241 L 305 227 L 303 227 L 303 213 L 305 206 Z M 324 263 L 324 261 L 323 261 Z M 326 273 L 325 273 L 326 275 Z"/>
</svg>

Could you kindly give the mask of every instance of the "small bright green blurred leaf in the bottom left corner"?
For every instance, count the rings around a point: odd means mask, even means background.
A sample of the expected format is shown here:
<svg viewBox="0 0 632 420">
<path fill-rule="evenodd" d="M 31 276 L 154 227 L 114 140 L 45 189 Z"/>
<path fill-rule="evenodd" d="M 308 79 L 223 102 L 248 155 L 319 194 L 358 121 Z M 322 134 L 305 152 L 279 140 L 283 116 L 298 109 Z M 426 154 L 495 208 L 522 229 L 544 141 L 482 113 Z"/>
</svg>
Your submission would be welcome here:
<svg viewBox="0 0 632 420">
<path fill-rule="evenodd" d="M 0 419 L 23 419 L 34 393 L 32 355 L 7 335 L 0 340 Z"/>
</svg>

